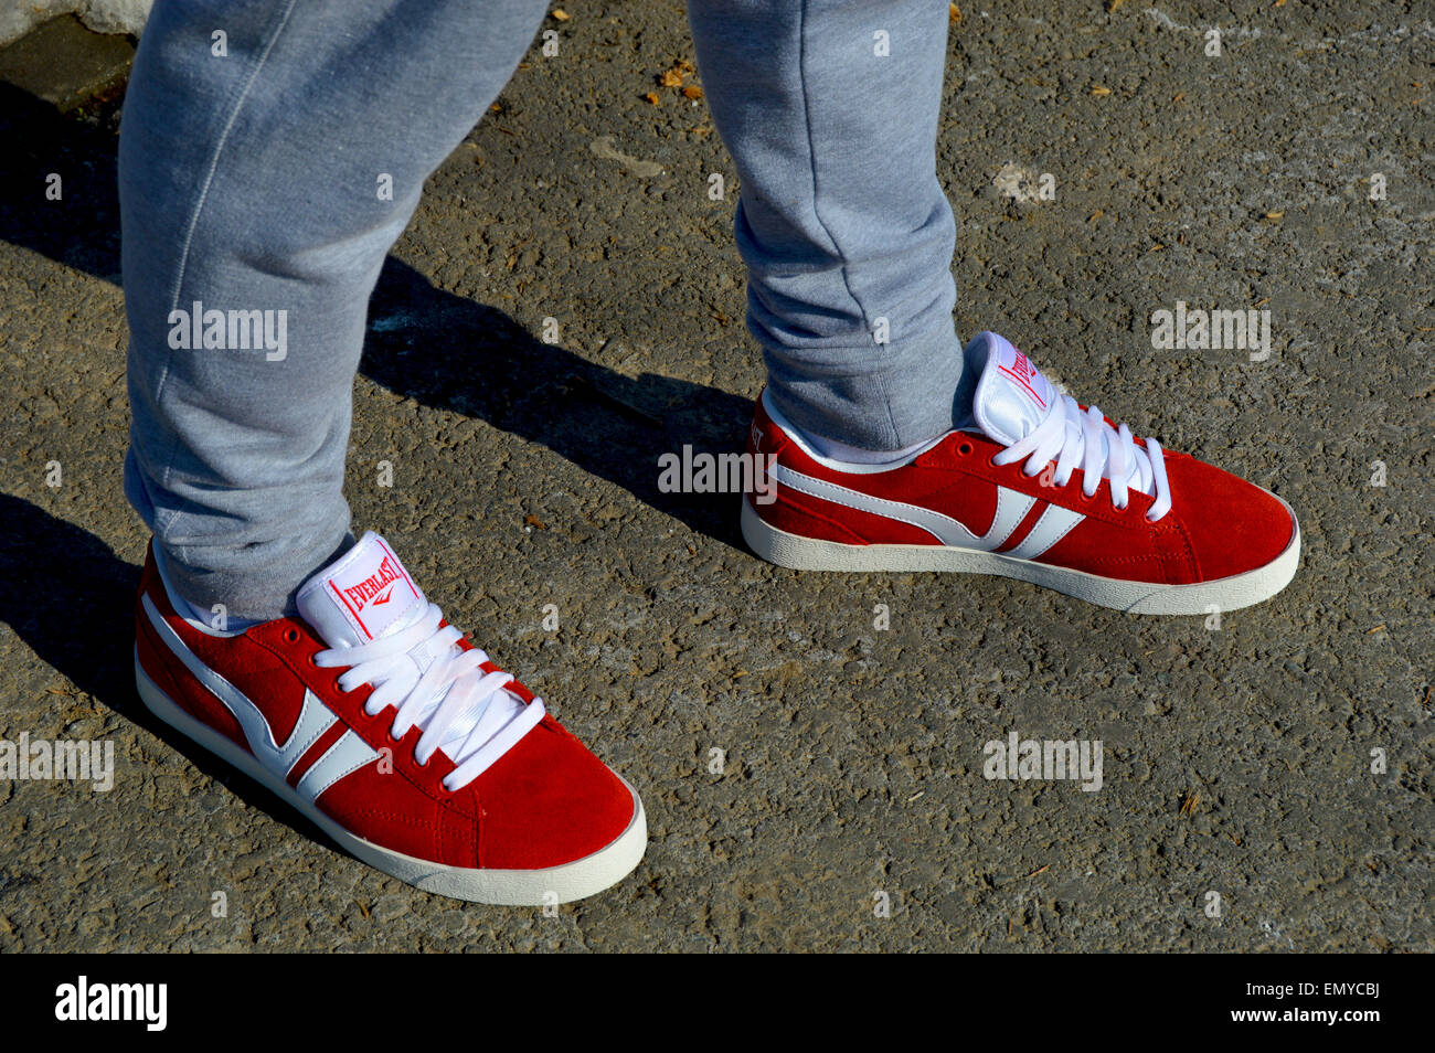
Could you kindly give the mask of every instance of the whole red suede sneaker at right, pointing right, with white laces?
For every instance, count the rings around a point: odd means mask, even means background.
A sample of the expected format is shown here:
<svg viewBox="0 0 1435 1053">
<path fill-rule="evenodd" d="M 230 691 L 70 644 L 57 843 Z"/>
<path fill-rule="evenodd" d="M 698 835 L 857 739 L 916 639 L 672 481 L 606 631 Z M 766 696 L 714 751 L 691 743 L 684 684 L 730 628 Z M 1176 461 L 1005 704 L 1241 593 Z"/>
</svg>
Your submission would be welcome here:
<svg viewBox="0 0 1435 1053">
<path fill-rule="evenodd" d="M 1142 614 L 1236 610 L 1294 577 L 1300 528 L 1276 495 L 1132 439 L 996 333 L 967 362 L 974 423 L 883 465 L 818 455 L 763 393 L 752 549 L 795 570 L 1000 574 Z"/>
</svg>

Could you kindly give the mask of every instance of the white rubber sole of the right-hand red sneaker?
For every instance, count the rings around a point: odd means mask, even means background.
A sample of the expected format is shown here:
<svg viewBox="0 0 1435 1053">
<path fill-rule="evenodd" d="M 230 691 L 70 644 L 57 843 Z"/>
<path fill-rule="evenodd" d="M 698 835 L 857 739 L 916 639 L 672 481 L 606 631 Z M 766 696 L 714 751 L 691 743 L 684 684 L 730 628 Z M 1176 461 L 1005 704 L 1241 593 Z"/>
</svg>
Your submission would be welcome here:
<svg viewBox="0 0 1435 1053">
<path fill-rule="evenodd" d="M 1269 600 L 1296 577 L 1300 565 L 1300 524 L 1290 505 L 1284 501 L 1281 505 L 1290 512 L 1292 537 L 1280 555 L 1253 571 L 1194 585 L 1104 578 L 1099 574 L 951 545 L 844 545 L 838 541 L 804 538 L 763 522 L 746 496 L 742 501 L 742 537 L 763 559 L 795 571 L 997 574 L 1131 614 L 1210 614 L 1213 608 L 1234 611 Z"/>
</svg>

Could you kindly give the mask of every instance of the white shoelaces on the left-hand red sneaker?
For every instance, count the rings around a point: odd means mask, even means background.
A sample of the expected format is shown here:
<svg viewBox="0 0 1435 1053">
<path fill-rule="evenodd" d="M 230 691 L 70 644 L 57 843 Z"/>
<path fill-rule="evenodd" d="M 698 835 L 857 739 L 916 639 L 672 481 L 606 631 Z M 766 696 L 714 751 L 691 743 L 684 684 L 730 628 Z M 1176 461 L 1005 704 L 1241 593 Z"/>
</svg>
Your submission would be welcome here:
<svg viewBox="0 0 1435 1053">
<path fill-rule="evenodd" d="M 442 747 L 458 765 L 443 778 L 443 786 L 456 790 L 507 753 L 542 720 L 545 710 L 542 699 L 537 697 L 517 716 L 511 706 L 495 704 L 499 693 L 514 681 L 512 674 L 484 673 L 479 667 L 488 656 L 476 647 L 458 648 L 464 633 L 455 625 L 441 628 L 442 620 L 438 604 L 429 604 L 412 625 L 357 647 L 319 651 L 314 664 L 349 666 L 339 677 L 346 691 L 372 684 L 373 693 L 364 700 L 369 716 L 377 716 L 385 706 L 396 706 L 390 729 L 395 739 L 402 739 L 415 724 L 422 726 L 413 759 L 426 765 Z M 422 663 L 410 658 L 410 651 L 432 658 L 416 680 Z M 464 730 L 474 717 L 474 726 Z"/>
</svg>

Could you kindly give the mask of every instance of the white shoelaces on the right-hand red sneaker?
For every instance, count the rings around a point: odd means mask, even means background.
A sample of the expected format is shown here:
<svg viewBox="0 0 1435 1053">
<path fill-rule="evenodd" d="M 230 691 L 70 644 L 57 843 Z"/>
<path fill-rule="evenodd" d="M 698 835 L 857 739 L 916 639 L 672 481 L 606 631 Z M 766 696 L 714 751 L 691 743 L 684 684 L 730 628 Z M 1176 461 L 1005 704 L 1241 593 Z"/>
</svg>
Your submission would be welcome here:
<svg viewBox="0 0 1435 1053">
<path fill-rule="evenodd" d="M 1009 465 L 1029 458 L 1022 473 L 1027 478 L 1056 459 L 1058 486 L 1071 482 L 1078 461 L 1082 469 L 1081 491 L 1088 498 L 1096 496 L 1096 488 L 1106 475 L 1111 479 L 1111 504 L 1125 508 L 1131 502 L 1129 485 L 1132 471 L 1137 475 L 1137 489 L 1155 494 L 1155 502 L 1147 511 L 1147 522 L 1158 522 L 1171 511 L 1171 483 L 1165 478 L 1165 453 L 1161 443 L 1147 439 L 1145 449 L 1135 443 L 1131 429 L 1125 425 L 1112 429 L 1095 406 L 1085 413 L 1072 396 L 1063 395 L 1062 402 L 1046 420 L 1030 435 L 1020 439 L 992 458 L 993 463 Z"/>
</svg>

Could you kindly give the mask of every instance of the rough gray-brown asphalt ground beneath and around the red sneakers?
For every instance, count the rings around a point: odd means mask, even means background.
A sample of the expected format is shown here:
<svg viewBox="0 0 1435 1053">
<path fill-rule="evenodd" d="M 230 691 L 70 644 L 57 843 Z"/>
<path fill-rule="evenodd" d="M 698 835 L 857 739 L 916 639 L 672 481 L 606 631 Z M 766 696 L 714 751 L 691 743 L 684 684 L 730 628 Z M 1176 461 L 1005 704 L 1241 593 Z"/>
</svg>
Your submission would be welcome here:
<svg viewBox="0 0 1435 1053">
<path fill-rule="evenodd" d="M 1297 509 L 1300 574 L 1218 628 L 791 572 L 730 495 L 659 492 L 662 453 L 740 448 L 762 384 L 736 176 L 657 83 L 693 57 L 680 4 L 574 3 L 432 178 L 372 306 L 349 498 L 644 796 L 639 871 L 557 917 L 370 871 L 144 710 L 116 115 L 6 93 L 0 737 L 110 740 L 115 783 L 0 780 L 0 950 L 1435 948 L 1435 14 L 1106 7 L 961 4 L 959 331 Z M 1004 197 L 1007 165 L 1053 192 Z M 1154 349 L 1177 301 L 1270 310 L 1270 357 Z M 1101 789 L 984 779 L 1013 730 L 1102 742 Z"/>
</svg>

